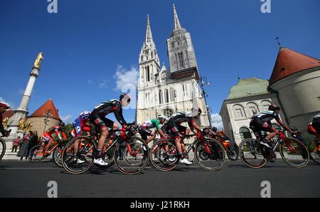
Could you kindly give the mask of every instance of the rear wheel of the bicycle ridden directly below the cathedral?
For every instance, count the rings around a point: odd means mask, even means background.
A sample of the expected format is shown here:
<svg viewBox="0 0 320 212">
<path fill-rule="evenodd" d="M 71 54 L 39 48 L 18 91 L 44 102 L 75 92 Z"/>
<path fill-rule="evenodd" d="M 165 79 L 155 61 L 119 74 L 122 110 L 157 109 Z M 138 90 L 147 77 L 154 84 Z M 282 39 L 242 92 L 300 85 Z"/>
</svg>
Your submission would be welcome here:
<svg viewBox="0 0 320 212">
<path fill-rule="evenodd" d="M 176 145 L 169 139 L 157 140 L 151 147 L 151 164 L 160 171 L 170 171 L 178 164 Z"/>
</svg>

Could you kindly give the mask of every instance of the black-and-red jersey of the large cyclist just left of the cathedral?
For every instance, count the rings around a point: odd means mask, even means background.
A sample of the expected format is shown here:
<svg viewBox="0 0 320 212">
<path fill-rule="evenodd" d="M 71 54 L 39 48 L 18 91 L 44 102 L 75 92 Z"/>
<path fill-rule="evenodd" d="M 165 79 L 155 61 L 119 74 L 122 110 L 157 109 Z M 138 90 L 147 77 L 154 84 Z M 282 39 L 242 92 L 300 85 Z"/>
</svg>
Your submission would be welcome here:
<svg viewBox="0 0 320 212">
<path fill-rule="evenodd" d="M 97 107 L 95 107 L 95 110 L 92 110 L 91 112 L 90 121 L 100 129 L 104 127 L 112 128 L 114 122 L 105 118 L 106 115 L 112 112 L 122 126 L 127 125 L 127 122 L 124 120 L 124 117 L 122 115 L 121 103 L 118 100 L 109 100 L 107 102 L 102 102 L 100 105 L 97 105 Z"/>
</svg>

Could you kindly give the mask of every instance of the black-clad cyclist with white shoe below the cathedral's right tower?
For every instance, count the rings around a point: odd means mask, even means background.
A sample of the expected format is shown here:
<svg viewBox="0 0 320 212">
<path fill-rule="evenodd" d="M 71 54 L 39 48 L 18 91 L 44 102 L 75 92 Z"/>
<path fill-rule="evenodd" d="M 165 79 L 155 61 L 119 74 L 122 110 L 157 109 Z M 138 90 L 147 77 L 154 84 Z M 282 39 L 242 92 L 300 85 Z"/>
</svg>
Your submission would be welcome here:
<svg viewBox="0 0 320 212">
<path fill-rule="evenodd" d="M 175 137 L 176 142 L 176 149 L 178 151 L 178 159 L 179 163 L 191 165 L 192 162 L 188 161 L 186 157 L 183 155 L 182 147 L 181 147 L 181 138 L 180 132 L 188 132 L 187 127 L 183 127 L 181 124 L 183 122 L 188 122 L 189 127 L 194 133 L 202 132 L 202 129 L 196 124 L 194 119 L 198 119 L 201 115 L 201 108 L 198 107 L 195 110 L 192 109 L 192 112 L 178 112 L 177 114 L 173 115 L 170 120 L 165 124 L 166 125 L 166 132 L 171 130 L 171 133 Z"/>
</svg>

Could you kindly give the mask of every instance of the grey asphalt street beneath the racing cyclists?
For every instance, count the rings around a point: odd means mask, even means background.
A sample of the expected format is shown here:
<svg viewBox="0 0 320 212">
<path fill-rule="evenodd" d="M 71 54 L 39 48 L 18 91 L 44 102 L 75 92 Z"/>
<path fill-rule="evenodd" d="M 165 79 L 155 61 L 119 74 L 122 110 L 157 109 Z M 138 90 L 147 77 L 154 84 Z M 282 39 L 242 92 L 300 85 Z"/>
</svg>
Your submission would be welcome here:
<svg viewBox="0 0 320 212">
<path fill-rule="evenodd" d="M 196 162 L 169 172 L 149 164 L 141 174 L 127 176 L 112 166 L 92 167 L 85 174 L 68 174 L 52 161 L 0 161 L 0 197 L 47 197 L 49 181 L 57 182 L 58 197 L 107 198 L 260 198 L 262 181 L 270 182 L 271 197 L 320 197 L 320 166 L 312 162 L 294 169 L 278 159 L 263 169 L 242 161 L 226 161 L 220 171 L 205 171 Z"/>
</svg>

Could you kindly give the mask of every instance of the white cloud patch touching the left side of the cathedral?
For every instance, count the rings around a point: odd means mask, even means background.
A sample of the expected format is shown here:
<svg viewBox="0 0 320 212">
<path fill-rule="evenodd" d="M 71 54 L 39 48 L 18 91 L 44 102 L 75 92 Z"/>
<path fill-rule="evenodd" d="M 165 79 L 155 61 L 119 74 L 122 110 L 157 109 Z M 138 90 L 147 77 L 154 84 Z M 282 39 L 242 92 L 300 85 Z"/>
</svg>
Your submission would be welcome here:
<svg viewBox="0 0 320 212">
<path fill-rule="evenodd" d="M 124 85 L 134 85 L 137 87 L 139 79 L 139 71 L 136 67 L 131 67 L 130 70 L 123 68 L 122 65 L 118 65 L 117 71 L 114 74 L 114 79 L 116 79 L 115 90 L 122 90 Z"/>
</svg>

